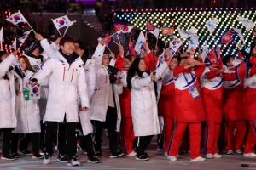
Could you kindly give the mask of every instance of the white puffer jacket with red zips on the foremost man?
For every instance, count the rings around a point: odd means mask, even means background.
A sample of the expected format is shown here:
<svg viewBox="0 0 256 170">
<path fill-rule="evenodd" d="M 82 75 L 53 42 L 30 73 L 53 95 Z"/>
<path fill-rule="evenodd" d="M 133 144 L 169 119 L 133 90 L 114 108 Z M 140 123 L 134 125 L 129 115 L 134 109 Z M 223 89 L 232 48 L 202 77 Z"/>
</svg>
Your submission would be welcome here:
<svg viewBox="0 0 256 170">
<path fill-rule="evenodd" d="M 43 80 L 49 76 L 49 96 L 44 116 L 45 121 L 63 122 L 65 113 L 67 122 L 79 122 L 78 94 L 82 107 L 89 108 L 87 86 L 84 73 L 84 62 L 81 58 L 69 65 L 59 51 L 50 47 L 46 39 L 41 46 L 50 59 L 46 60 L 32 78 Z M 78 92 L 78 93 L 77 93 Z"/>
</svg>

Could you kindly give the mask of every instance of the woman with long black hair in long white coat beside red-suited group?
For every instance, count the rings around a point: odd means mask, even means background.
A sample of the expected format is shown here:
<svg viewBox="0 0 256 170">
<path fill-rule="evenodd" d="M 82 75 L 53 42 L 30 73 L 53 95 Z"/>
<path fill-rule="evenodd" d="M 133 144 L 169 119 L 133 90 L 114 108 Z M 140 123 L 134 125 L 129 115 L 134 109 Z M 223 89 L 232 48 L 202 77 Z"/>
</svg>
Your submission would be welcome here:
<svg viewBox="0 0 256 170">
<path fill-rule="evenodd" d="M 137 160 L 148 160 L 145 150 L 153 135 L 160 133 L 153 82 L 160 79 L 167 68 L 168 65 L 163 63 L 154 74 L 146 72 L 144 59 L 138 58 L 128 71 L 127 87 L 131 90 L 131 116 L 137 137 Z"/>
</svg>

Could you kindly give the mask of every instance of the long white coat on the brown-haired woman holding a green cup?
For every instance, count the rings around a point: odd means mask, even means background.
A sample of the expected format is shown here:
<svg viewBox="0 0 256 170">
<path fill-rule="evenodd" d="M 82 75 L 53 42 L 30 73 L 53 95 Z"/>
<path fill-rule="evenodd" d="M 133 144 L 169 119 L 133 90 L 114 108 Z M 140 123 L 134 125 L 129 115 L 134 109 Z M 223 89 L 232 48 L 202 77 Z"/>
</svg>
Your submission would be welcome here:
<svg viewBox="0 0 256 170">
<path fill-rule="evenodd" d="M 23 79 L 15 72 L 15 87 L 19 94 L 16 95 L 15 115 L 17 117 L 17 127 L 12 133 L 40 133 L 40 111 L 38 100 L 24 99 L 23 89 L 28 88 L 29 78 L 34 73 L 26 71 Z"/>
</svg>

